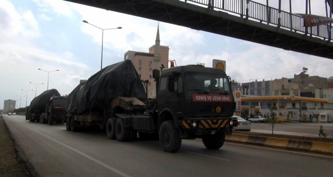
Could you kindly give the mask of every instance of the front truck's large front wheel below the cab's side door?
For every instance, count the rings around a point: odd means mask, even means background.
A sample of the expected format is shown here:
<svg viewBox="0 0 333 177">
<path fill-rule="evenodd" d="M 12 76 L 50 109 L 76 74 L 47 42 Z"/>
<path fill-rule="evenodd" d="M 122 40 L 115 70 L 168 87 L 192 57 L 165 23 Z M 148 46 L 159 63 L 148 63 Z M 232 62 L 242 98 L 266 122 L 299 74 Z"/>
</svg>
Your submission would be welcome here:
<svg viewBox="0 0 333 177">
<path fill-rule="evenodd" d="M 159 129 L 159 144 L 165 152 L 176 152 L 182 144 L 178 130 L 173 121 L 164 121 Z"/>
</svg>

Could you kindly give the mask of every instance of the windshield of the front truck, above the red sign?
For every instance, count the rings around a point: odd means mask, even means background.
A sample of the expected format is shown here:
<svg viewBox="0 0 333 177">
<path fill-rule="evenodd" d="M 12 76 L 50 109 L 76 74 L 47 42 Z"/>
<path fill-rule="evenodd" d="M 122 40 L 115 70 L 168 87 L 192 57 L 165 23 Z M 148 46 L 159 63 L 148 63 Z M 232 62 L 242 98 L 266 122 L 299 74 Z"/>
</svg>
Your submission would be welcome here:
<svg viewBox="0 0 333 177">
<path fill-rule="evenodd" d="M 231 93 L 228 77 L 222 74 L 186 72 L 185 82 L 187 90 Z"/>
</svg>

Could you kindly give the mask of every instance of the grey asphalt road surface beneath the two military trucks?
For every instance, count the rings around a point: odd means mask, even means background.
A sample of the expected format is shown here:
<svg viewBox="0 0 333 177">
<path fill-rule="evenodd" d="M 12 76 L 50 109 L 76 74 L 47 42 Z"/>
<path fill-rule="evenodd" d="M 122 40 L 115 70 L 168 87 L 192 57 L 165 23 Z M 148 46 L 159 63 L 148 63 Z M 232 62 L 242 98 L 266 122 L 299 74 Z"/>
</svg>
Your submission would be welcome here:
<svg viewBox="0 0 333 177">
<path fill-rule="evenodd" d="M 3 116 L 40 176 L 331 176 L 333 157 L 245 144 L 207 150 L 183 140 L 177 153 L 158 141 L 118 142 L 102 132 L 67 131 L 65 125 Z"/>
</svg>

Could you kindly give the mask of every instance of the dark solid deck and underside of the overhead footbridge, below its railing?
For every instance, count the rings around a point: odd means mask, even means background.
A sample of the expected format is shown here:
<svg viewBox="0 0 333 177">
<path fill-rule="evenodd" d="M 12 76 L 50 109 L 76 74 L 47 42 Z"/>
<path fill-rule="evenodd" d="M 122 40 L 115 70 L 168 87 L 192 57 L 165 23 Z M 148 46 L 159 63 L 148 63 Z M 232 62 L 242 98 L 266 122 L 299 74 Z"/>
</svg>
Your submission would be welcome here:
<svg viewBox="0 0 333 177">
<path fill-rule="evenodd" d="M 333 42 L 185 2 L 171 0 L 66 1 L 333 59 Z"/>
</svg>

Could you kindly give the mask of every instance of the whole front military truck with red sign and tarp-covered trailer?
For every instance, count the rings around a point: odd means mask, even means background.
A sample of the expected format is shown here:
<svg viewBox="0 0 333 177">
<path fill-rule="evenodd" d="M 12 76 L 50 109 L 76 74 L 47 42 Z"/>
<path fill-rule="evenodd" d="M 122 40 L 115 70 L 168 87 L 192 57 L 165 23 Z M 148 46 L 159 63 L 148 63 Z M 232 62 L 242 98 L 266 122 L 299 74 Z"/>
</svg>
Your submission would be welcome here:
<svg viewBox="0 0 333 177">
<path fill-rule="evenodd" d="M 68 96 L 66 129 L 97 125 L 108 139 L 133 141 L 158 137 L 161 148 L 176 152 L 182 139 L 201 138 L 208 149 L 219 149 L 235 102 L 230 77 L 202 65 L 153 70 L 156 98 L 147 99 L 132 62 L 107 66 L 79 84 Z M 209 86 L 208 89 L 208 85 Z"/>
</svg>

